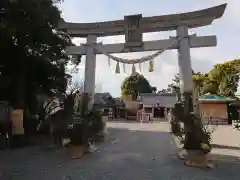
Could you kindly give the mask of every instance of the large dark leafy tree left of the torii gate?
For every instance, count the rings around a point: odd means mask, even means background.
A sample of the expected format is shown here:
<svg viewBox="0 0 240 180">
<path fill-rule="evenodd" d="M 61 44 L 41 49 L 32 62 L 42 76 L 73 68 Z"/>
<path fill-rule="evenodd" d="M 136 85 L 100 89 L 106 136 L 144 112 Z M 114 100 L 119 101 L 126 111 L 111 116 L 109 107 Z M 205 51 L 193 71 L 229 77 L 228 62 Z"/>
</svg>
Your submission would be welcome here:
<svg viewBox="0 0 240 180">
<path fill-rule="evenodd" d="M 71 39 L 58 29 L 57 1 L 1 0 L 0 79 L 2 98 L 24 104 L 38 87 L 66 88 L 64 49 Z M 60 61 L 63 60 L 63 61 Z M 3 80 L 3 81 L 2 81 Z"/>
</svg>

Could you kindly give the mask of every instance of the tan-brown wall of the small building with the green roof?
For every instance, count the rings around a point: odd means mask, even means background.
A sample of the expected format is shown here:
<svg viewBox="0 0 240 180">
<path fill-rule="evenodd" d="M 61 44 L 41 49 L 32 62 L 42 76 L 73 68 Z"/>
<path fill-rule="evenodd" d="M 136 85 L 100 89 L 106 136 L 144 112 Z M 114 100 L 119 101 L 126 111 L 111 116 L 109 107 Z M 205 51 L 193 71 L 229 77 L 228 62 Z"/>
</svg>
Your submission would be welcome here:
<svg viewBox="0 0 240 180">
<path fill-rule="evenodd" d="M 212 117 L 212 124 L 227 124 L 228 113 L 227 105 L 223 103 L 204 103 L 199 105 L 200 114 L 202 119 L 208 121 Z"/>
</svg>

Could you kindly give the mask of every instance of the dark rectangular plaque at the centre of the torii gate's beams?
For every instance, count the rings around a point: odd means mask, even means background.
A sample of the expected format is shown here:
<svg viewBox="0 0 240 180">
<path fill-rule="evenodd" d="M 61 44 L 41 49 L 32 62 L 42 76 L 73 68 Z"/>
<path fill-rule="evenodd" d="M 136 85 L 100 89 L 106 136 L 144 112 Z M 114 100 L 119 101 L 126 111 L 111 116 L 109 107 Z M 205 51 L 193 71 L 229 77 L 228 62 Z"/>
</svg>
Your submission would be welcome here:
<svg viewBox="0 0 240 180">
<path fill-rule="evenodd" d="M 142 50 L 143 40 L 142 40 L 142 32 L 140 29 L 140 21 L 142 19 L 142 15 L 131 15 L 125 16 L 125 48 L 134 49 L 134 50 Z"/>
</svg>

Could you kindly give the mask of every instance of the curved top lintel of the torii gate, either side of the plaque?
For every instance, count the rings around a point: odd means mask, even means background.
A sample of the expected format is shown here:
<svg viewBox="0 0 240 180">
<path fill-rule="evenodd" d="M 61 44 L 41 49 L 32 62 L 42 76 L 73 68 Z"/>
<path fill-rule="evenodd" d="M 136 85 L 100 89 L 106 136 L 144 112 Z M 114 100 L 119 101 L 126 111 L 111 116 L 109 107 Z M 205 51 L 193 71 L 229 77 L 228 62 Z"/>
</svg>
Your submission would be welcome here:
<svg viewBox="0 0 240 180">
<path fill-rule="evenodd" d="M 157 32 L 175 30 L 179 25 L 188 28 L 197 28 L 212 24 L 213 20 L 222 17 L 227 4 L 188 13 L 171 14 L 163 16 L 143 17 L 140 20 L 140 31 Z M 59 27 L 66 29 L 71 37 L 87 37 L 88 35 L 113 36 L 125 34 L 125 21 L 106 21 L 96 23 L 70 23 L 64 20 Z"/>
</svg>

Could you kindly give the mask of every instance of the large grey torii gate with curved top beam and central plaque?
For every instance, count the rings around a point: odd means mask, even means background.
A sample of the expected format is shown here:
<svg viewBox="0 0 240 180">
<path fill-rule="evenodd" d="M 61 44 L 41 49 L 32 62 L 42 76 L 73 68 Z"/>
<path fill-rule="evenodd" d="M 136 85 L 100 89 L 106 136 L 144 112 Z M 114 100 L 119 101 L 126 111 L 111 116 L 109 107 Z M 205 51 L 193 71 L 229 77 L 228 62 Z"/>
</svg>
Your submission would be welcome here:
<svg viewBox="0 0 240 180">
<path fill-rule="evenodd" d="M 125 16 L 124 20 L 97 23 L 61 22 L 59 27 L 67 30 L 71 37 L 87 38 L 87 44 L 71 46 L 66 50 L 68 55 L 86 55 L 84 91 L 94 94 L 96 54 L 101 54 L 91 46 L 97 44 L 97 37 L 125 35 L 125 43 L 105 44 L 106 53 L 127 53 L 142 51 L 157 51 L 174 44 L 176 38 L 181 38 L 169 49 L 178 50 L 181 92 L 192 93 L 192 67 L 190 48 L 213 47 L 217 45 L 216 36 L 196 36 L 188 34 L 190 28 L 211 25 L 220 18 L 227 4 L 194 12 L 142 17 L 142 15 Z M 156 41 L 142 41 L 142 33 L 176 30 L 176 37 Z"/>
</svg>

